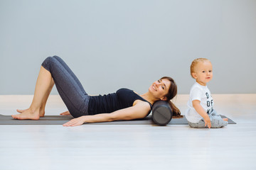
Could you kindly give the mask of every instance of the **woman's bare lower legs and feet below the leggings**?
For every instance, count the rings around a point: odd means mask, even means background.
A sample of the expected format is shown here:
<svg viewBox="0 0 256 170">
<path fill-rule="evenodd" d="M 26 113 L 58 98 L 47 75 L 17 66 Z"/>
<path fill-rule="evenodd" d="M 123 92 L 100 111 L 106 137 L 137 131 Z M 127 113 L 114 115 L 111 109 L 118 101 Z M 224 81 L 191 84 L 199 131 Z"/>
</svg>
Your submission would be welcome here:
<svg viewBox="0 0 256 170">
<path fill-rule="evenodd" d="M 36 88 L 31 106 L 28 109 L 21 111 L 20 114 L 11 116 L 15 119 L 38 120 L 40 115 L 44 115 L 44 107 L 46 106 L 45 103 L 47 101 L 48 95 L 50 94 L 50 90 L 53 88 L 53 84 L 54 81 L 50 72 L 41 67 L 38 74 L 38 79 L 36 81 Z"/>
</svg>

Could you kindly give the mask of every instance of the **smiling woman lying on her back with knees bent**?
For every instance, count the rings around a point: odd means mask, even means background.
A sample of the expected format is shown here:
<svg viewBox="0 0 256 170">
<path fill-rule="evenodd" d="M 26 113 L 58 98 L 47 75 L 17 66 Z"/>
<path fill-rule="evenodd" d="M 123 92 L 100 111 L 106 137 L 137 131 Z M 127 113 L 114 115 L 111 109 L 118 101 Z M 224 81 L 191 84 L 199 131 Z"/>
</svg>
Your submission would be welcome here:
<svg viewBox="0 0 256 170">
<path fill-rule="evenodd" d="M 114 94 L 104 96 L 88 96 L 68 65 L 60 57 L 54 56 L 46 58 L 41 66 L 31 106 L 26 110 L 17 109 L 19 114 L 11 116 L 31 120 L 43 117 L 54 84 L 68 108 L 60 115 L 71 114 L 74 117 L 63 126 L 144 118 L 149 115 L 153 103 L 159 100 L 169 101 L 174 115 L 181 115 L 170 101 L 177 94 L 177 86 L 170 77 L 155 81 L 149 91 L 140 96 L 129 89 L 119 89 Z"/>
</svg>

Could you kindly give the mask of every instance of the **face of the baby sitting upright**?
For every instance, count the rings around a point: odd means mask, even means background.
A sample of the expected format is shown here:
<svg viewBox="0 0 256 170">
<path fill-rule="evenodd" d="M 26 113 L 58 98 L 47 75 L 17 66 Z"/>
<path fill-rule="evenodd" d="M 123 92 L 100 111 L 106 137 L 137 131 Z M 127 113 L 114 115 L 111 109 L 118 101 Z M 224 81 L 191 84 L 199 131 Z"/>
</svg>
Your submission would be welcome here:
<svg viewBox="0 0 256 170">
<path fill-rule="evenodd" d="M 213 66 L 210 61 L 198 62 L 192 75 L 198 84 L 206 86 L 213 79 Z"/>
</svg>

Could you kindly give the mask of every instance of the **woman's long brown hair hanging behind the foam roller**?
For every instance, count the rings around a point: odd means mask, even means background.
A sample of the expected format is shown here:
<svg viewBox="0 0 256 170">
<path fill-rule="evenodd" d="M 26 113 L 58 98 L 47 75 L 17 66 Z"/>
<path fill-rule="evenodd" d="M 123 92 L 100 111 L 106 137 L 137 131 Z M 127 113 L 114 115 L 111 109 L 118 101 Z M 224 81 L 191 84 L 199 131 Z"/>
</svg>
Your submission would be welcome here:
<svg viewBox="0 0 256 170">
<path fill-rule="evenodd" d="M 181 115 L 181 111 L 174 105 L 174 103 L 171 102 L 171 99 L 173 99 L 178 93 L 178 87 L 174 79 L 172 79 L 171 77 L 162 77 L 161 79 L 168 79 L 171 82 L 168 94 L 166 94 L 166 101 L 168 101 L 169 105 L 171 106 L 174 118 L 182 118 L 183 116 Z"/>
</svg>

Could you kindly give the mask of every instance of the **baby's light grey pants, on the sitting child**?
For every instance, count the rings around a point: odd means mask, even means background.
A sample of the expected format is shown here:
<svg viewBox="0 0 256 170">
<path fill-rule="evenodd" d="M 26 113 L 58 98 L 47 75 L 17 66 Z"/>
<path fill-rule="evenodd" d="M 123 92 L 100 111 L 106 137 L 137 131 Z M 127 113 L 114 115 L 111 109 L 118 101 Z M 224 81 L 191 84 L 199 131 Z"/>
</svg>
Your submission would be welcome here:
<svg viewBox="0 0 256 170">
<path fill-rule="evenodd" d="M 218 115 L 218 113 L 216 113 L 215 110 L 213 110 L 213 112 L 210 113 L 209 117 L 210 117 L 211 128 L 221 128 L 223 126 L 228 125 L 228 122 L 224 121 L 220 117 L 220 115 Z M 199 121 L 199 123 L 188 122 L 188 125 L 190 125 L 191 128 L 208 128 L 208 125 L 206 125 L 206 123 L 205 123 L 205 121 L 203 121 L 203 119 L 201 119 Z M 206 127 L 205 127 L 205 125 L 206 125 Z"/>
</svg>

